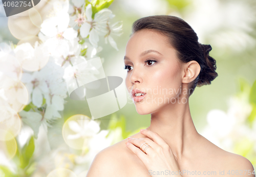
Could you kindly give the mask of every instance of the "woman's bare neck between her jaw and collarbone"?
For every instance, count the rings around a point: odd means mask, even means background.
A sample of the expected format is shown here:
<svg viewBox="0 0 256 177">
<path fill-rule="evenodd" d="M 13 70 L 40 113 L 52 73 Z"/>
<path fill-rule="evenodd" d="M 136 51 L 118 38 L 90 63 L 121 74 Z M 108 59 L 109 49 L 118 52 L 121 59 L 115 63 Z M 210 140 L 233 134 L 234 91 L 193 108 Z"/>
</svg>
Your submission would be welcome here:
<svg viewBox="0 0 256 177">
<path fill-rule="evenodd" d="M 191 145 L 201 136 L 191 118 L 188 101 L 185 104 L 166 105 L 158 112 L 152 113 L 151 125 L 146 129 L 157 132 L 178 160 L 193 149 Z"/>
</svg>

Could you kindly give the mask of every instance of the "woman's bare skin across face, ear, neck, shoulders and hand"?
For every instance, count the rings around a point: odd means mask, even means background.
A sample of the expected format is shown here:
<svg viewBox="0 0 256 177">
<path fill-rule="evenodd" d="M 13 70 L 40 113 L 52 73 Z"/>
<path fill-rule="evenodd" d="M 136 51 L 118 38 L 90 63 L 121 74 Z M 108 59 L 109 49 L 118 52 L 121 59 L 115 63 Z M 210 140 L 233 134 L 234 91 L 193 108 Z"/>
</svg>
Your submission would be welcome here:
<svg viewBox="0 0 256 177">
<path fill-rule="evenodd" d="M 141 30 L 127 42 L 124 64 L 129 93 L 133 89 L 146 93 L 134 104 L 138 114 L 151 114 L 151 124 L 131 139 L 101 150 L 88 177 L 255 176 L 248 159 L 219 148 L 197 132 L 190 115 L 188 88 L 200 72 L 198 62 L 181 63 L 167 37 Z M 144 142 L 151 146 L 146 153 L 142 152 L 145 145 L 140 150 Z M 166 175 L 165 170 L 182 174 Z M 157 174 L 161 171 L 162 175 Z"/>
</svg>

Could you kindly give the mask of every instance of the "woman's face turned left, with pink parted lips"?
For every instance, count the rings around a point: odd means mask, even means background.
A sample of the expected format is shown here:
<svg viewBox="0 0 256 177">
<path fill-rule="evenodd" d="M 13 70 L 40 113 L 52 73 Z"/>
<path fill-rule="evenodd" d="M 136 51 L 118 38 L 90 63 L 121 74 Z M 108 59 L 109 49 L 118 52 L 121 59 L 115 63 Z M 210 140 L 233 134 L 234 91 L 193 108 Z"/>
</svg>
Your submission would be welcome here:
<svg viewBox="0 0 256 177">
<path fill-rule="evenodd" d="M 175 49 L 167 37 L 153 30 L 134 33 L 127 42 L 124 56 L 127 70 L 125 84 L 132 90 L 145 92 L 140 101 L 133 102 L 139 114 L 157 112 L 166 105 L 176 104 L 181 92 L 182 70 Z M 184 100 L 183 100 L 184 102 Z"/>
</svg>

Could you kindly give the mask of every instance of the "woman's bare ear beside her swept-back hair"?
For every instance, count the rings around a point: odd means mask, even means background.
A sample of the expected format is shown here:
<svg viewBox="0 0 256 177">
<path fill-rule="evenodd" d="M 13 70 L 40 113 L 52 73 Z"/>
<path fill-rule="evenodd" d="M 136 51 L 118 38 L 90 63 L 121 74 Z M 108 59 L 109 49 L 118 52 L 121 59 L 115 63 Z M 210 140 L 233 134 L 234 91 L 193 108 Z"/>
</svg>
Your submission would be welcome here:
<svg viewBox="0 0 256 177">
<path fill-rule="evenodd" d="M 189 61 L 184 65 L 184 76 L 182 83 L 190 83 L 197 78 L 201 70 L 199 63 L 195 60 Z"/>
</svg>

